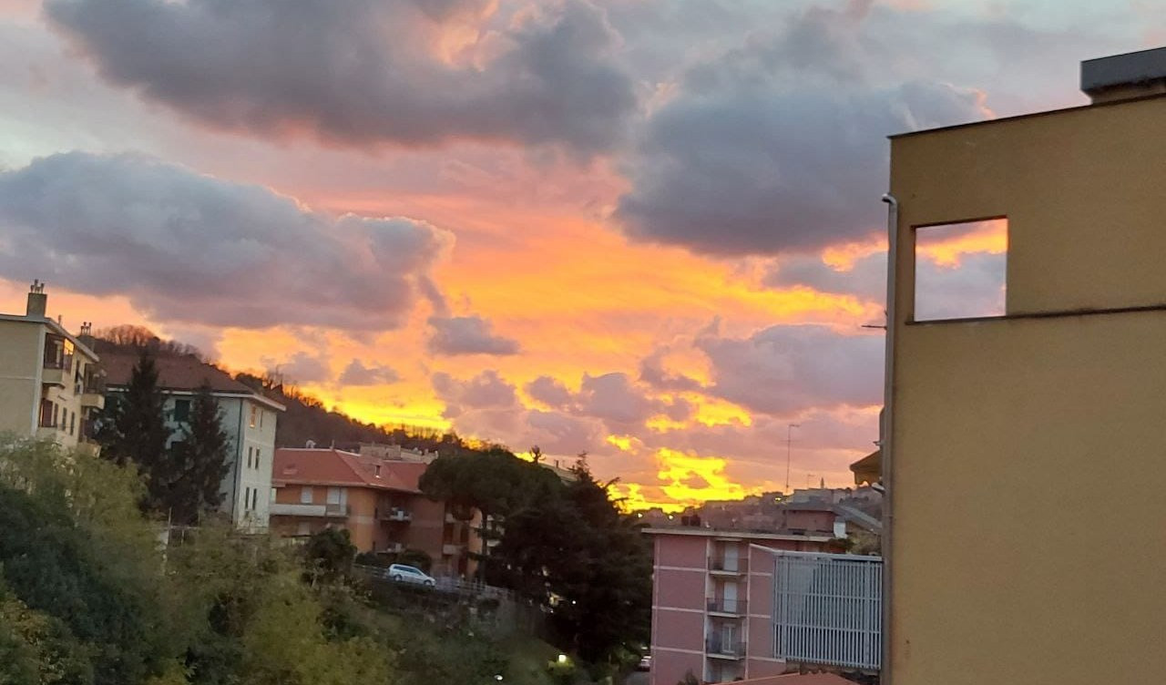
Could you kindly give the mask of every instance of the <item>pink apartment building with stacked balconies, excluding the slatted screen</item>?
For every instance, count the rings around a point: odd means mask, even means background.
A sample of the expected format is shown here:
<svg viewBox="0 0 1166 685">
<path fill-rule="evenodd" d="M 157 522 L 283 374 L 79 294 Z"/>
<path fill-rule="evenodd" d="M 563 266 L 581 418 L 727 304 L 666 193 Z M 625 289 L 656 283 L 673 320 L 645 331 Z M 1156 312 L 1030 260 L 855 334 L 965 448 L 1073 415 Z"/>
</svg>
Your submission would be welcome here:
<svg viewBox="0 0 1166 685">
<path fill-rule="evenodd" d="M 655 538 L 652 685 L 775 676 L 774 555 L 823 552 L 833 535 L 649 528 Z"/>
</svg>

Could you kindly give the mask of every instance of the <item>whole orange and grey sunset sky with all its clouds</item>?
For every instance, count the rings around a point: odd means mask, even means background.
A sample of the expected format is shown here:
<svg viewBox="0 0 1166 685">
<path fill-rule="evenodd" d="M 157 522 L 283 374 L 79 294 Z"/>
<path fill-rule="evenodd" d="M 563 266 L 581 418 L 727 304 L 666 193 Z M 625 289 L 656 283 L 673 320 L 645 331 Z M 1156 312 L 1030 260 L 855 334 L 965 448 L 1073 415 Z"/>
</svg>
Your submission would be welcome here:
<svg viewBox="0 0 1166 685">
<path fill-rule="evenodd" d="M 132 323 L 638 504 L 851 482 L 886 135 L 1083 104 L 1166 0 L 0 0 L 0 312 Z M 942 170 L 937 170 L 941 172 Z M 936 316 L 1006 240 L 936 233 Z"/>
</svg>

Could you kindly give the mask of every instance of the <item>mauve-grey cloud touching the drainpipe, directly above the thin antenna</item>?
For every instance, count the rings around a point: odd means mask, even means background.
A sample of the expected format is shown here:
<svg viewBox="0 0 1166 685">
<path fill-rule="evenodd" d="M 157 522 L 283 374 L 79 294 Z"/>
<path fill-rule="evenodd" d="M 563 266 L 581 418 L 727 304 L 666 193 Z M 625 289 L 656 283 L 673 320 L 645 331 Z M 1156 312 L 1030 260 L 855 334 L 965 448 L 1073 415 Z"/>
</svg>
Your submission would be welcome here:
<svg viewBox="0 0 1166 685">
<path fill-rule="evenodd" d="M 705 336 L 696 347 L 712 363 L 705 391 L 751 411 L 788 415 L 881 402 L 881 336 L 779 325 L 749 338 Z"/>
</svg>

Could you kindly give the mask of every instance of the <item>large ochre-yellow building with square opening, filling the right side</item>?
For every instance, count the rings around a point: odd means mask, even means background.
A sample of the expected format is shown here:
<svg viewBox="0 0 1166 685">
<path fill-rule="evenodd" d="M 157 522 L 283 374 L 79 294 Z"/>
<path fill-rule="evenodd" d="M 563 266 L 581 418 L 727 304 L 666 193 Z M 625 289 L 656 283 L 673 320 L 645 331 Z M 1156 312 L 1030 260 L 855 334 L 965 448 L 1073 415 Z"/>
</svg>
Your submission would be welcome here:
<svg viewBox="0 0 1166 685">
<path fill-rule="evenodd" d="M 1164 84 L 1086 62 L 1089 106 L 892 139 L 884 683 L 1164 679 Z M 1004 311 L 915 320 L 916 240 L 1002 218 Z"/>
</svg>

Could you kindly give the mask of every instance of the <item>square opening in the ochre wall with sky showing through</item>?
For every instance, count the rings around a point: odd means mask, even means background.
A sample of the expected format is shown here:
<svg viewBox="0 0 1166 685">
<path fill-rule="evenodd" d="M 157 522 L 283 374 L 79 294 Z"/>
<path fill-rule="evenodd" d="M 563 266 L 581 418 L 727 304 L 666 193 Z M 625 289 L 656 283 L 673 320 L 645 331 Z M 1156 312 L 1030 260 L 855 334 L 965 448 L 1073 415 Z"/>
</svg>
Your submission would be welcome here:
<svg viewBox="0 0 1166 685">
<path fill-rule="evenodd" d="M 1009 220 L 915 228 L 914 320 L 1004 316 Z"/>
</svg>

